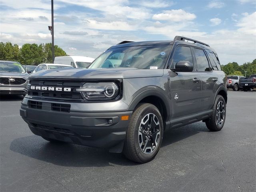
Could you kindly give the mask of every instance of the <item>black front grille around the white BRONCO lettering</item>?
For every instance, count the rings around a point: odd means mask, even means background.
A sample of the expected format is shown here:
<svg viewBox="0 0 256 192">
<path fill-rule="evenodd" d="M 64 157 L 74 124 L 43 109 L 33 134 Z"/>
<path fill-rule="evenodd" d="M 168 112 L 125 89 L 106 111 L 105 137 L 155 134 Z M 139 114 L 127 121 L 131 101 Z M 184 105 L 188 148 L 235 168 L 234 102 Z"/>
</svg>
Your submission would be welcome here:
<svg viewBox="0 0 256 192">
<path fill-rule="evenodd" d="M 84 80 L 30 79 L 31 86 L 66 87 L 71 88 L 71 92 L 28 89 L 28 95 L 34 96 L 35 98 L 45 98 L 47 100 L 62 99 L 68 101 L 84 101 L 79 92 L 73 92 L 75 88 L 80 88 L 84 83 Z"/>
</svg>

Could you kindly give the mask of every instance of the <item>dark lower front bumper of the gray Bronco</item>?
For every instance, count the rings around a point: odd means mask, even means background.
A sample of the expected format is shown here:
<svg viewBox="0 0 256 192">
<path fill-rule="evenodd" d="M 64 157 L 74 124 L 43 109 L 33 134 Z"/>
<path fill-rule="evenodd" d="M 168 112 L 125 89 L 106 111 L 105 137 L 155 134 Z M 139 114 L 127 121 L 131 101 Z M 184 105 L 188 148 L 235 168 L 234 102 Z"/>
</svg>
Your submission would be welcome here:
<svg viewBox="0 0 256 192">
<path fill-rule="evenodd" d="M 84 146 L 108 148 L 110 152 L 122 152 L 129 120 L 121 120 L 121 116 L 131 117 L 132 111 L 58 112 L 52 110 L 52 102 L 43 101 L 41 109 L 31 108 L 29 102 L 22 103 L 20 116 L 34 134 Z"/>
</svg>

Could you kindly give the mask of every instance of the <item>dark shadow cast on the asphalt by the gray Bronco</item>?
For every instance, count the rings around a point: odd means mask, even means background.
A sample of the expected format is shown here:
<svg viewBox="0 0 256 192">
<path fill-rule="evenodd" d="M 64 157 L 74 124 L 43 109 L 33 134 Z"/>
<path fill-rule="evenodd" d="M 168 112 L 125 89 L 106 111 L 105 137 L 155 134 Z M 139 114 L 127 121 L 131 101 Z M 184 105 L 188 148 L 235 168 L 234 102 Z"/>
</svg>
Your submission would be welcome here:
<svg viewBox="0 0 256 192">
<path fill-rule="evenodd" d="M 197 124 L 170 130 L 164 134 L 161 147 L 171 145 L 202 131 L 208 132 L 208 129 L 205 126 L 197 126 Z M 127 160 L 120 153 L 109 153 L 108 150 L 76 144 L 50 143 L 36 135 L 13 140 L 10 150 L 30 158 L 67 167 L 102 167 L 114 166 L 113 164 L 122 166 L 139 165 Z"/>
</svg>

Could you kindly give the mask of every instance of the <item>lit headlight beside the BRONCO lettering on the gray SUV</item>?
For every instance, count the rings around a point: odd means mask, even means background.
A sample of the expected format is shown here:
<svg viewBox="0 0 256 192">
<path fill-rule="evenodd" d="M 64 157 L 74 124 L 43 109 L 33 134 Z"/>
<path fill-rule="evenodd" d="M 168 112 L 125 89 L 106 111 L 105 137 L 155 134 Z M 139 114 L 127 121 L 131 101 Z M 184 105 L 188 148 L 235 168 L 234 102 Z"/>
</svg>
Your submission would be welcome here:
<svg viewBox="0 0 256 192">
<path fill-rule="evenodd" d="M 119 89 L 114 82 L 85 83 L 76 89 L 87 100 L 113 100 L 119 95 Z"/>
</svg>

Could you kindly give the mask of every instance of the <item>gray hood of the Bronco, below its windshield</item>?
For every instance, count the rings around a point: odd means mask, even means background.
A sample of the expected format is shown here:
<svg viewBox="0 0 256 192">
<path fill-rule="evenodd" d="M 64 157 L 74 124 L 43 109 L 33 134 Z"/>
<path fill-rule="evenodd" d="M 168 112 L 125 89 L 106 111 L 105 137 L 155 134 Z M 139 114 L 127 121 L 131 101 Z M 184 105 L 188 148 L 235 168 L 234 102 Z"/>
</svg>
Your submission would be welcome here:
<svg viewBox="0 0 256 192">
<path fill-rule="evenodd" d="M 50 69 L 30 75 L 30 78 L 56 79 L 125 79 L 163 76 L 163 69 L 102 68 L 102 69 Z"/>
</svg>

